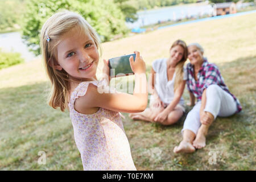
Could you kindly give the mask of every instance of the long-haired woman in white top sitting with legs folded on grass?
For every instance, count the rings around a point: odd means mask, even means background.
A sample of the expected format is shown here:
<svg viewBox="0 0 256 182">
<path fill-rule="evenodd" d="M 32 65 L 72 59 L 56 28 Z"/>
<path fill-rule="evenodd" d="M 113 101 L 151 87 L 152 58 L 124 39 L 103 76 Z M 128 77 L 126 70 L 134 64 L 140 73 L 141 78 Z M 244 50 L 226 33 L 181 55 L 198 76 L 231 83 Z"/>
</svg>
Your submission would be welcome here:
<svg viewBox="0 0 256 182">
<path fill-rule="evenodd" d="M 158 59 L 152 63 L 150 107 L 142 113 L 130 114 L 131 119 L 162 125 L 179 121 L 185 111 L 181 96 L 185 88 L 183 65 L 186 60 L 187 45 L 182 40 L 176 40 L 170 48 L 168 59 Z"/>
</svg>

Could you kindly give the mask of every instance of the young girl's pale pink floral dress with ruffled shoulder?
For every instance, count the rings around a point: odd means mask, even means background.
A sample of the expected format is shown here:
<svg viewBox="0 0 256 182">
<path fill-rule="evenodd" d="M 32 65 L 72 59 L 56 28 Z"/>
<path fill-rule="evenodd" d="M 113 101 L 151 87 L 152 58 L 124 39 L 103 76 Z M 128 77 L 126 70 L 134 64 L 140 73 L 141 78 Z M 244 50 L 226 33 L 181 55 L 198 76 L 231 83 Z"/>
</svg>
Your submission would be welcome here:
<svg viewBox="0 0 256 182">
<path fill-rule="evenodd" d="M 89 84 L 106 85 L 105 80 L 81 82 L 71 94 L 70 117 L 84 170 L 136 170 L 121 113 L 100 109 L 93 114 L 75 110 L 75 100 L 84 96 Z"/>
</svg>

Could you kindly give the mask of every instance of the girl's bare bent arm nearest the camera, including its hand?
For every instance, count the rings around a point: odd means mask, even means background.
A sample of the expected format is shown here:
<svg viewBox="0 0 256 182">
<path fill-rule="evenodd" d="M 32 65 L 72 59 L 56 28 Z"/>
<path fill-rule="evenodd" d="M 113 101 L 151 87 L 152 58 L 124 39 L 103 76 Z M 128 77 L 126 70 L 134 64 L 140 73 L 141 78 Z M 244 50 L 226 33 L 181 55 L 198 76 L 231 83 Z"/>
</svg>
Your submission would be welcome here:
<svg viewBox="0 0 256 182">
<path fill-rule="evenodd" d="M 138 113 L 146 109 L 147 106 L 147 79 L 146 64 L 139 52 L 136 53 L 136 59 L 130 57 L 131 69 L 135 73 L 135 86 L 133 94 L 109 92 L 109 88 L 98 90 L 97 86 L 89 84 L 85 96 L 77 98 L 75 102 L 76 110 L 85 113 L 88 109 L 103 107 L 113 111 L 124 113 Z M 102 93 L 102 91 L 104 91 Z"/>
</svg>

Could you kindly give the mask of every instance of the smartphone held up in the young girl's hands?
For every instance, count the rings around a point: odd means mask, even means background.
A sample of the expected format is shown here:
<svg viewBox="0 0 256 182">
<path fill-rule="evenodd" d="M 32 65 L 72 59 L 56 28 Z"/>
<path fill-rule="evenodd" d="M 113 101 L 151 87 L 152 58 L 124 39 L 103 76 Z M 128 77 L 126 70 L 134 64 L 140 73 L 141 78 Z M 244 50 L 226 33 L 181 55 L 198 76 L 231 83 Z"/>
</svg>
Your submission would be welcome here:
<svg viewBox="0 0 256 182">
<path fill-rule="evenodd" d="M 121 77 L 134 74 L 130 66 L 130 56 L 133 56 L 133 61 L 135 61 L 135 53 L 109 59 L 110 77 Z"/>
</svg>

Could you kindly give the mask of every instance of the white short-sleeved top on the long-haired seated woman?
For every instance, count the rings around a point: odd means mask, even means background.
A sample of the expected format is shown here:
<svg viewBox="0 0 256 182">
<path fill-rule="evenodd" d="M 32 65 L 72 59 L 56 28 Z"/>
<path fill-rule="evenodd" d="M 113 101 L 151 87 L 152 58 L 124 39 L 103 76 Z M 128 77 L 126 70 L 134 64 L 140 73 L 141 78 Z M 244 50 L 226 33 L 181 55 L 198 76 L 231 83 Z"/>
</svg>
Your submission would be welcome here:
<svg viewBox="0 0 256 182">
<path fill-rule="evenodd" d="M 174 80 L 175 73 L 172 80 L 168 81 L 167 76 L 167 59 L 157 59 L 152 63 L 152 68 L 157 73 L 155 77 L 155 89 L 158 93 L 160 100 L 165 104 L 169 105 L 174 100 Z M 187 80 L 186 70 L 183 69 L 184 76 L 183 80 Z M 181 97 L 179 104 L 184 105 L 184 100 Z"/>
</svg>

